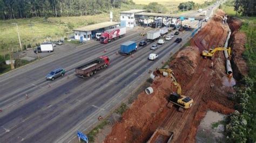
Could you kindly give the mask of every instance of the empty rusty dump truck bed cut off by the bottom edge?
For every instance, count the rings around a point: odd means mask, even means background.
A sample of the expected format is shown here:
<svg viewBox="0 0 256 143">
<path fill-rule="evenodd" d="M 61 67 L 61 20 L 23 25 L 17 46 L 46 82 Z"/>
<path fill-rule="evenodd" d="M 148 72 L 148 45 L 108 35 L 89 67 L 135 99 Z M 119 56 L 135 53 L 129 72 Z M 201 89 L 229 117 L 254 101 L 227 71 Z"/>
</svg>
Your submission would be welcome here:
<svg viewBox="0 0 256 143">
<path fill-rule="evenodd" d="M 164 129 L 163 127 L 158 127 L 156 131 L 154 131 L 151 138 L 147 141 L 147 143 L 155 143 L 155 142 L 166 142 L 171 143 L 173 138 L 173 132 Z"/>
</svg>

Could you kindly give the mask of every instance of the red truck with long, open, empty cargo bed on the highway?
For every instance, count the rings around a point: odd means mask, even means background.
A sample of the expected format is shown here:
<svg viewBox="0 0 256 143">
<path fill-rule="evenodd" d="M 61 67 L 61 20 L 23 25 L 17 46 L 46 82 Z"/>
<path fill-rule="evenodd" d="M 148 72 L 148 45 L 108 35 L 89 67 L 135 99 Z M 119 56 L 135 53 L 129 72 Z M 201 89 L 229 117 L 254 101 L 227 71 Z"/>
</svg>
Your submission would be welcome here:
<svg viewBox="0 0 256 143">
<path fill-rule="evenodd" d="M 96 74 L 98 70 L 104 69 L 109 66 L 109 57 L 100 56 L 99 58 L 85 63 L 84 65 L 75 69 L 76 75 L 79 77 L 90 77 Z"/>
</svg>

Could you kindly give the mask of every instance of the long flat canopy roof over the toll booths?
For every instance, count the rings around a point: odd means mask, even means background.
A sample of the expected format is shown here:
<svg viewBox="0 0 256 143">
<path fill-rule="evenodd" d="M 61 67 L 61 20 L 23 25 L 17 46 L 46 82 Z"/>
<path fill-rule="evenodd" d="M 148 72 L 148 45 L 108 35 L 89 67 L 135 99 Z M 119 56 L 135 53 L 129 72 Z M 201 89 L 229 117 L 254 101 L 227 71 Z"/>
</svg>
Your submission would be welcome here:
<svg viewBox="0 0 256 143">
<path fill-rule="evenodd" d="M 189 16 L 189 15 L 171 15 L 169 13 L 151 13 L 151 12 L 140 12 L 140 13 L 136 13 L 134 15 L 138 15 L 138 16 L 154 16 L 154 17 L 172 17 L 172 18 L 184 17 L 185 19 L 193 17 L 193 16 Z M 202 17 L 202 16 L 197 16 L 197 17 L 193 17 L 193 18 L 195 20 L 203 20 L 204 19 L 204 17 Z"/>
</svg>

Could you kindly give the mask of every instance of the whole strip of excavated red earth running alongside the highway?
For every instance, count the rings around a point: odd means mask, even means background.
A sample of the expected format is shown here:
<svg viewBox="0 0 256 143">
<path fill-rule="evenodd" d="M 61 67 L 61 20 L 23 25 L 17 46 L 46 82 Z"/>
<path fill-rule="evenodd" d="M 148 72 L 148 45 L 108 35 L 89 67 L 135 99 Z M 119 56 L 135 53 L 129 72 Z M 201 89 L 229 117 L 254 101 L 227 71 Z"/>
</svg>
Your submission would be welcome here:
<svg viewBox="0 0 256 143">
<path fill-rule="evenodd" d="M 122 119 L 113 125 L 104 142 L 146 142 L 158 127 L 172 131 L 172 142 L 196 142 L 197 127 L 207 110 L 228 115 L 234 112 L 234 103 L 228 96 L 234 94 L 233 85 L 248 68 L 242 59 L 245 50 L 244 33 L 238 32 L 241 22 L 228 18 L 223 24 L 225 13 L 218 10 L 212 19 L 191 39 L 191 45 L 181 49 L 169 63 L 174 76 L 182 88 L 182 95 L 194 101 L 190 109 L 178 112 L 176 106 L 167 107 L 167 99 L 177 88 L 168 77 L 154 78 L 149 95 L 141 92 L 126 110 Z M 228 34 L 228 31 L 231 31 Z M 225 44 L 227 37 L 229 42 Z M 201 52 L 214 47 L 231 47 L 231 61 L 227 62 L 223 52 L 217 52 L 214 59 L 204 59 Z M 211 68 L 211 63 L 214 63 Z M 232 66 L 232 67 L 231 67 Z M 233 69 L 233 70 L 232 70 Z M 228 78 L 227 73 L 233 77 Z M 236 79 L 236 80 L 234 80 Z"/>
</svg>

